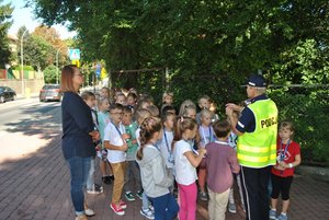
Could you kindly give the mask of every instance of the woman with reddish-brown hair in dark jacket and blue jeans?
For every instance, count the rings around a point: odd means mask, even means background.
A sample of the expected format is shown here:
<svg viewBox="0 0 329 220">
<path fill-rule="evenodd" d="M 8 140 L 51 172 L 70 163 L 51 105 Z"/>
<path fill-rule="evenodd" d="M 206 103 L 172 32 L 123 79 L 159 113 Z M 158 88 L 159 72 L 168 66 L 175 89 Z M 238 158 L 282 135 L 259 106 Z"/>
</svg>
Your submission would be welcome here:
<svg viewBox="0 0 329 220">
<path fill-rule="evenodd" d="M 72 65 L 61 70 L 61 149 L 68 163 L 71 177 L 71 198 L 76 209 L 76 220 L 86 220 L 86 215 L 94 215 L 92 210 L 86 212 L 83 188 L 86 186 L 91 157 L 95 150 L 93 141 L 99 139 L 94 130 L 90 107 L 79 95 L 83 83 L 83 76 Z"/>
</svg>

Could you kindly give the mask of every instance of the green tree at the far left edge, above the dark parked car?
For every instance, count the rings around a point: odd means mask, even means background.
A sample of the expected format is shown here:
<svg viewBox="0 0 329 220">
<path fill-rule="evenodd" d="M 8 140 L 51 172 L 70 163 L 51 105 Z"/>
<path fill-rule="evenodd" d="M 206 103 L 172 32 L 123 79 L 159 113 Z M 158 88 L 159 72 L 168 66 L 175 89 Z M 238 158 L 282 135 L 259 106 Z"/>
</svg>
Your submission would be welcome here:
<svg viewBox="0 0 329 220">
<path fill-rule="evenodd" d="M 0 68 L 4 67 L 11 59 L 11 50 L 9 47 L 9 39 L 7 36 L 8 30 L 12 25 L 11 13 L 13 8 L 10 3 L 2 5 L 0 0 Z"/>
</svg>

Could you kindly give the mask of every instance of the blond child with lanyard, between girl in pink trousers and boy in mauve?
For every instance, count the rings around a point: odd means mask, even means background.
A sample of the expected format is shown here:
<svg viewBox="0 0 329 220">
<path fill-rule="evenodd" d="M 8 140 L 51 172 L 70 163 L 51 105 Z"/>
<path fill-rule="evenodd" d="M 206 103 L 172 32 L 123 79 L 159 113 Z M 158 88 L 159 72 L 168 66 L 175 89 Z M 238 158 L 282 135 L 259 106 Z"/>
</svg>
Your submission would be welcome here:
<svg viewBox="0 0 329 220">
<path fill-rule="evenodd" d="M 209 142 L 215 141 L 215 134 L 212 127 L 212 117 L 213 113 L 209 109 L 202 109 L 200 113 L 201 125 L 198 127 L 200 135 L 200 148 L 205 148 L 205 146 Z M 206 201 L 208 199 L 206 190 L 205 190 L 205 181 L 207 171 L 204 165 L 198 167 L 198 186 L 200 186 L 200 199 Z"/>
</svg>

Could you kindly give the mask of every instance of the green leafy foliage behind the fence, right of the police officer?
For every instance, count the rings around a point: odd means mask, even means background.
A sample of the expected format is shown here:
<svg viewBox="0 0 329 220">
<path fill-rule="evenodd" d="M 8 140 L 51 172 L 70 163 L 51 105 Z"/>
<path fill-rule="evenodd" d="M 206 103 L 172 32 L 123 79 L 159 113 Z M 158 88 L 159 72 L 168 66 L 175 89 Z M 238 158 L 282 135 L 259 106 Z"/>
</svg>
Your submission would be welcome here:
<svg viewBox="0 0 329 220">
<path fill-rule="evenodd" d="M 277 105 L 279 119 L 294 123 L 303 160 L 329 163 L 328 86 L 273 89 L 269 95 Z"/>
</svg>

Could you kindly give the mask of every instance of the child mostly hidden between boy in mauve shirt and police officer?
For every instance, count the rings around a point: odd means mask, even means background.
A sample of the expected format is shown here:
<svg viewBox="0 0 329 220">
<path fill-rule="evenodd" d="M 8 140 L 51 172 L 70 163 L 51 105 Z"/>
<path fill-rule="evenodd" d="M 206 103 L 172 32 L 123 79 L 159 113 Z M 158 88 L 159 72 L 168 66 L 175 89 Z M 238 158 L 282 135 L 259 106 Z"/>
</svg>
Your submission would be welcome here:
<svg viewBox="0 0 329 220">
<path fill-rule="evenodd" d="M 238 120 L 239 119 L 239 112 L 234 111 L 232 116 L 234 116 L 234 118 L 236 118 L 236 120 Z M 238 136 L 234 131 L 230 131 L 230 134 L 228 136 L 228 139 L 227 139 L 227 142 L 235 151 L 237 151 L 237 141 L 238 141 Z M 242 206 L 243 211 L 246 211 L 245 201 L 243 201 L 243 194 L 242 194 L 241 176 L 240 176 L 239 173 L 234 174 L 234 175 L 236 175 L 236 180 L 237 180 L 237 184 L 238 184 L 238 188 L 239 188 L 239 194 L 240 194 L 240 199 L 241 199 L 241 206 Z M 230 190 L 229 190 L 228 211 L 231 212 L 231 213 L 237 212 L 237 206 L 236 206 L 235 198 L 234 198 L 234 187 L 231 187 Z"/>
</svg>

